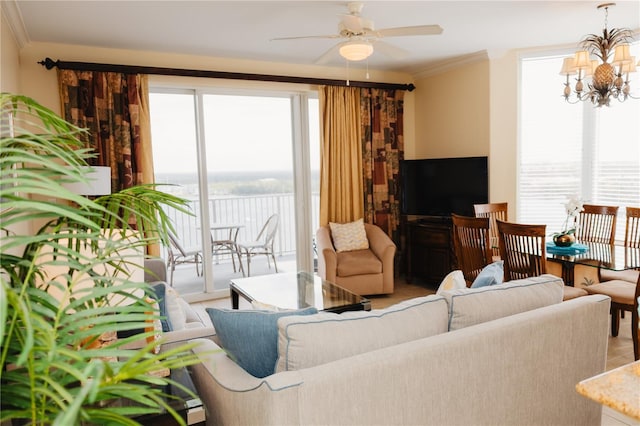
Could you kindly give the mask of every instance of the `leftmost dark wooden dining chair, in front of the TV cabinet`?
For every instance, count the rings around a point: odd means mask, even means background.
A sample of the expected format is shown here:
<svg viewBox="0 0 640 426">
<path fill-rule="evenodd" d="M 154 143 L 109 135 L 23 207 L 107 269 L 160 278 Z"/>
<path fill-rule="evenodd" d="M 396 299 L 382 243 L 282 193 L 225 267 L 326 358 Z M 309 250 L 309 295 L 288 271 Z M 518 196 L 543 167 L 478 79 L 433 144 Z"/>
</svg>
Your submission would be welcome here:
<svg viewBox="0 0 640 426">
<path fill-rule="evenodd" d="M 451 219 L 458 267 L 464 275 L 467 287 L 471 287 L 480 271 L 493 261 L 489 239 L 489 218 L 452 214 Z"/>
</svg>

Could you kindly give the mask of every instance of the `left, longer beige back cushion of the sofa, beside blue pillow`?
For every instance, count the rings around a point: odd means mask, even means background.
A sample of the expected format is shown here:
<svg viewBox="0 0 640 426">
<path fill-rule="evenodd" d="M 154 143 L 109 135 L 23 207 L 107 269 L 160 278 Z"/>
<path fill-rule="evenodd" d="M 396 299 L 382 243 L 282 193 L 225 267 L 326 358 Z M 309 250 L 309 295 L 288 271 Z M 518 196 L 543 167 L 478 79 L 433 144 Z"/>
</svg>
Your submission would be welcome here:
<svg viewBox="0 0 640 426">
<path fill-rule="evenodd" d="M 447 303 L 436 295 L 370 312 L 280 318 L 276 372 L 309 368 L 444 333 L 447 320 Z"/>
</svg>

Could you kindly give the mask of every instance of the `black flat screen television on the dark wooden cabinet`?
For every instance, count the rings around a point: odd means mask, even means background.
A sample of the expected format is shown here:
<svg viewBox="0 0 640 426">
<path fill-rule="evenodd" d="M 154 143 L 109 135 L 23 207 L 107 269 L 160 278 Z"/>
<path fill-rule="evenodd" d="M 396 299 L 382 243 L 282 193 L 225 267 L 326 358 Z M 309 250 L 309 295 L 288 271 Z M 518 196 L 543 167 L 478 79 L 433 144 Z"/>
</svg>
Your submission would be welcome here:
<svg viewBox="0 0 640 426">
<path fill-rule="evenodd" d="M 405 215 L 474 216 L 474 204 L 489 202 L 487 157 L 402 160 L 400 181 Z"/>
</svg>

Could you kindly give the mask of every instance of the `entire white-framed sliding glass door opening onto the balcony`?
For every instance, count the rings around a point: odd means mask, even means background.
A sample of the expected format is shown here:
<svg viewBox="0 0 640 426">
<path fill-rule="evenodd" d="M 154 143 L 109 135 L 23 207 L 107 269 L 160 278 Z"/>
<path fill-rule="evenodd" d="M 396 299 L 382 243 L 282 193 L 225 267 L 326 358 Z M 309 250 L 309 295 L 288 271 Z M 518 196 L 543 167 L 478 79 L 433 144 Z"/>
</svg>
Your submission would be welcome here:
<svg viewBox="0 0 640 426">
<path fill-rule="evenodd" d="M 190 200 L 192 215 L 174 212 L 176 239 L 204 259 L 198 270 L 176 265 L 176 288 L 226 296 L 229 280 L 247 273 L 246 258 L 241 266 L 234 244 L 255 240 L 272 215 L 279 219 L 278 271 L 312 270 L 317 99 L 153 89 L 150 99 L 156 181 L 174 184 L 163 190 Z M 172 250 L 165 249 L 168 260 Z M 275 273 L 276 265 L 267 256 L 252 258 L 251 275 Z"/>
</svg>

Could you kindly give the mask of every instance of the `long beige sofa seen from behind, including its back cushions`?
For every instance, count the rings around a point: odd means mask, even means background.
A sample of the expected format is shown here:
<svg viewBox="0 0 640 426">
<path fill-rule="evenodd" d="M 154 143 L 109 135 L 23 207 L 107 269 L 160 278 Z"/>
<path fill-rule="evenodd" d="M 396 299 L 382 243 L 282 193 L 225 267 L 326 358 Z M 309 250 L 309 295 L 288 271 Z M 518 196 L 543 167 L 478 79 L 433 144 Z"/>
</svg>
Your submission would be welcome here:
<svg viewBox="0 0 640 426">
<path fill-rule="evenodd" d="M 277 320 L 257 378 L 211 340 L 192 377 L 207 424 L 600 425 L 575 385 L 605 369 L 610 299 L 551 275 L 382 310 Z"/>
</svg>

